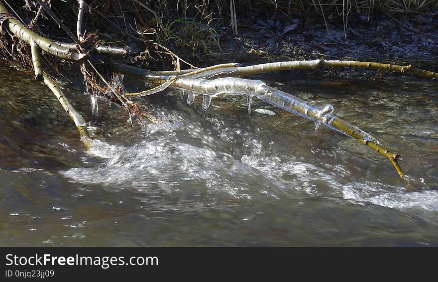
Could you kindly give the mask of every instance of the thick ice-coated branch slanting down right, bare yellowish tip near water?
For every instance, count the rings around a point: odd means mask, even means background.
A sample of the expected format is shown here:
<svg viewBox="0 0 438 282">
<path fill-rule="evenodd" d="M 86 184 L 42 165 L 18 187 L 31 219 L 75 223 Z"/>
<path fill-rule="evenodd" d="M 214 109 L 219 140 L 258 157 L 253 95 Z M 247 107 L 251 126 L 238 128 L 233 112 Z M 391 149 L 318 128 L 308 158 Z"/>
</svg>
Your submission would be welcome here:
<svg viewBox="0 0 438 282">
<path fill-rule="evenodd" d="M 402 160 L 399 154 L 390 152 L 384 148 L 377 139 L 364 132 L 356 126 L 353 126 L 333 114 L 333 106 L 326 105 L 324 108 L 318 108 L 304 100 L 301 100 L 291 94 L 267 86 L 261 80 L 249 80 L 241 78 L 218 78 L 215 80 L 179 78 L 172 83 L 172 87 L 194 91 L 204 95 L 203 110 L 207 110 L 211 103 L 211 97 L 219 94 L 225 95 L 247 95 L 248 112 L 251 111 L 252 96 L 276 106 L 280 109 L 296 114 L 300 117 L 314 121 L 315 131 L 318 131 L 320 124 L 342 133 L 346 136 L 359 140 L 362 144 L 385 155 L 394 165 L 400 177 L 405 173 L 398 164 Z M 192 92 L 191 92 L 192 93 Z M 194 95 L 192 93 L 192 95 Z M 194 96 L 193 96 L 194 97 Z M 190 94 L 189 94 L 190 98 Z M 188 99 L 188 103 L 193 103 L 194 99 Z"/>
</svg>

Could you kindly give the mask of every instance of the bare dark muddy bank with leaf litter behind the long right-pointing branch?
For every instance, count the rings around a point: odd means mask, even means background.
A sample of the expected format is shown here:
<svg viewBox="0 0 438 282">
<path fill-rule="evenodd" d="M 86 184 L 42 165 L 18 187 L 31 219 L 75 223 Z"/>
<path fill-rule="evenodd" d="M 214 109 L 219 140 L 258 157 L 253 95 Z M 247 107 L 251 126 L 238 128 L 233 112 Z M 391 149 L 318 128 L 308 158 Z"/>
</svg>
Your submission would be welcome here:
<svg viewBox="0 0 438 282">
<path fill-rule="evenodd" d="M 354 14 L 345 29 L 342 17 L 329 15 L 326 21 L 327 26 L 318 16 L 240 19 L 240 36 L 224 38 L 222 49 L 238 62 L 348 59 L 438 70 L 438 9 L 407 16 Z"/>
</svg>

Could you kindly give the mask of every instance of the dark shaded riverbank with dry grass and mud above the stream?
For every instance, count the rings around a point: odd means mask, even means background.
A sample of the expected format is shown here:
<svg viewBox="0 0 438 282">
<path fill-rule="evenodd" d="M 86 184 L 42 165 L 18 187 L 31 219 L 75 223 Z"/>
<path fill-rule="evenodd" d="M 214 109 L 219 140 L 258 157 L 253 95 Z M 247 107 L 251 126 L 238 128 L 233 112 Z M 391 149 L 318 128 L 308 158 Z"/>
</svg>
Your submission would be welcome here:
<svg viewBox="0 0 438 282">
<path fill-rule="evenodd" d="M 130 47 L 130 55 L 111 60 L 151 70 L 304 59 L 376 61 L 438 70 L 438 1 L 232 3 L 233 9 L 228 1 L 122 5 L 95 1 L 84 13 L 84 47 L 102 43 Z M 35 20 L 35 1 L 16 1 L 12 8 L 37 33 L 72 42 L 44 11 Z M 54 2 L 52 9 L 67 28 L 76 29 L 76 0 Z M 3 43 L 3 53 L 10 54 L 10 43 Z M 342 70 L 322 73 L 345 75 Z"/>
</svg>

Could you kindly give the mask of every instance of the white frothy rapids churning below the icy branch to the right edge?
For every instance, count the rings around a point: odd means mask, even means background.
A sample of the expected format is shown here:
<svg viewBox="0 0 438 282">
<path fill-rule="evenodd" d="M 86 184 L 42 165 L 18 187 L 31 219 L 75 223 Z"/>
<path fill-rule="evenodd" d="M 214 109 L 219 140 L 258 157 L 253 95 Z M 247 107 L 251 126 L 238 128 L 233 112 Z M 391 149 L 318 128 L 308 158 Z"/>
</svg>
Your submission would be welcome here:
<svg viewBox="0 0 438 282">
<path fill-rule="evenodd" d="M 207 102 L 203 102 L 203 108 L 210 102 L 208 98 L 204 98 Z M 172 193 L 195 185 L 201 191 L 236 199 L 250 200 L 256 195 L 280 199 L 290 197 L 290 191 L 302 191 L 302 197 L 337 196 L 357 204 L 438 209 L 437 191 L 406 192 L 403 186 L 379 181 L 348 182 L 351 172 L 343 164 L 322 165 L 310 162 L 311 159 L 282 155 L 280 145 L 274 141 L 266 143 L 258 131 L 249 133 L 238 125 L 230 127 L 211 119 L 217 132 L 212 134 L 184 113 L 160 109 L 156 114 L 163 123 L 148 124 L 142 131 L 143 141 L 129 146 L 93 141 L 87 154 L 104 158 L 104 162 L 94 167 L 71 168 L 62 174 L 78 182 L 145 193 L 153 192 L 151 187 Z M 268 115 L 272 115 L 270 111 Z M 243 150 L 236 151 L 233 147 L 237 144 Z"/>
</svg>

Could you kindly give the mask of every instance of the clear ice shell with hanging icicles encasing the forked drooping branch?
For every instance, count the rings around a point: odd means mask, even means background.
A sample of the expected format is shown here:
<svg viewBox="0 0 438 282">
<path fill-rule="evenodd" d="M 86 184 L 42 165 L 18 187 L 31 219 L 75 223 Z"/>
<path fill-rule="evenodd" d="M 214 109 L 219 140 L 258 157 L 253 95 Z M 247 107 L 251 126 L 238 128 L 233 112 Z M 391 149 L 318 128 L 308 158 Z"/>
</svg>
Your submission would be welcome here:
<svg viewBox="0 0 438 282">
<path fill-rule="evenodd" d="M 252 99 L 255 96 L 260 100 L 280 109 L 314 121 L 315 133 L 318 133 L 320 125 L 323 124 L 324 126 L 349 137 L 353 137 L 354 135 L 355 138 L 380 144 L 379 141 L 377 141 L 368 133 L 346 123 L 345 121 L 340 120 L 338 117 L 333 115 L 332 105 L 327 105 L 323 109 L 320 109 L 293 95 L 269 87 L 261 80 L 242 79 L 235 77 L 208 79 L 220 74 L 234 72 L 237 69 L 237 64 L 223 64 L 197 69 L 182 75 L 171 75 L 168 76 L 168 79 L 163 84 L 140 93 L 131 94 L 131 96 L 139 97 L 151 95 L 171 86 L 180 90 L 181 99 L 184 98 L 184 94 L 187 92 L 187 104 L 189 105 L 193 104 L 196 95 L 203 95 L 202 109 L 207 111 L 211 105 L 212 98 L 215 96 L 220 94 L 246 95 L 248 113 L 251 113 Z M 342 126 L 340 126 L 342 130 L 339 129 L 339 126 L 333 125 L 334 121 L 342 124 Z"/>
</svg>

